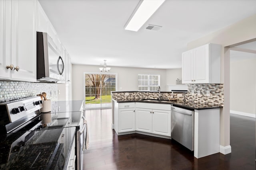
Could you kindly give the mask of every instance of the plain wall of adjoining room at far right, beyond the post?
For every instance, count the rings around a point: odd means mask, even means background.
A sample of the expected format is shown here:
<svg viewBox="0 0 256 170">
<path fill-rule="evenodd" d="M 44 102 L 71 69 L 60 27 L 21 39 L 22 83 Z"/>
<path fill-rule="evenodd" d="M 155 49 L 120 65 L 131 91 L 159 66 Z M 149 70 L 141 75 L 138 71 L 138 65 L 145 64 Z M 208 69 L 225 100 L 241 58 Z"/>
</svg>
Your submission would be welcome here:
<svg viewBox="0 0 256 170">
<path fill-rule="evenodd" d="M 256 54 L 230 51 L 230 110 L 255 115 L 255 65 Z"/>
</svg>

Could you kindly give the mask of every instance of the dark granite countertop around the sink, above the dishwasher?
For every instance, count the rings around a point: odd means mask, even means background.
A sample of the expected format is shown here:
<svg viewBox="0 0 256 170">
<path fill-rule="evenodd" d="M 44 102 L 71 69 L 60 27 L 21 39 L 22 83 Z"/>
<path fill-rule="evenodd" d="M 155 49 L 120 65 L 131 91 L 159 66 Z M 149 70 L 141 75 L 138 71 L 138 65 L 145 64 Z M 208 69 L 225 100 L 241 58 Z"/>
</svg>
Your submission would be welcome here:
<svg viewBox="0 0 256 170">
<path fill-rule="evenodd" d="M 114 100 L 114 99 L 113 99 Z M 145 100 L 114 100 L 118 103 L 121 102 L 145 102 L 145 103 L 158 103 L 158 104 L 172 104 L 173 106 L 184 107 L 188 109 L 213 109 L 213 108 L 222 108 L 222 106 L 214 106 L 209 104 L 202 104 L 202 103 L 194 103 L 194 102 L 184 102 L 184 101 L 161 101 L 161 100 L 152 100 L 152 101 L 145 101 Z"/>
</svg>

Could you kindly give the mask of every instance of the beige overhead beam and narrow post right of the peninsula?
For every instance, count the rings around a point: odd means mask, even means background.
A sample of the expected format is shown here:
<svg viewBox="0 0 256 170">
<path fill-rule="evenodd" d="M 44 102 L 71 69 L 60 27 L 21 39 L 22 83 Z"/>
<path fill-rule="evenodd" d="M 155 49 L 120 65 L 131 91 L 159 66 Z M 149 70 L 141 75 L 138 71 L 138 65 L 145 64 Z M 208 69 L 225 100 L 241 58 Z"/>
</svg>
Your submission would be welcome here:
<svg viewBox="0 0 256 170">
<path fill-rule="evenodd" d="M 222 45 L 221 82 L 224 84 L 224 107 L 220 113 L 220 145 L 222 147 L 230 145 L 230 58 L 229 50 L 224 47 L 256 38 L 255 21 L 256 15 L 253 15 L 188 43 L 188 50 L 206 43 Z"/>
</svg>

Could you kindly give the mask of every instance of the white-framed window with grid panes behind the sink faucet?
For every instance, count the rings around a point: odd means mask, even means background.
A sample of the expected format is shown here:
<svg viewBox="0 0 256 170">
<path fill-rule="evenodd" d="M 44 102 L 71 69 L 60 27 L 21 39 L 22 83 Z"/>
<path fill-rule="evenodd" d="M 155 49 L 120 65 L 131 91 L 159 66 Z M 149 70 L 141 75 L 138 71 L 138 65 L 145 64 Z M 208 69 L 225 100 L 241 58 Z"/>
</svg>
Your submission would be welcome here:
<svg viewBox="0 0 256 170">
<path fill-rule="evenodd" d="M 160 86 L 160 75 L 138 74 L 138 91 L 157 91 Z"/>
</svg>

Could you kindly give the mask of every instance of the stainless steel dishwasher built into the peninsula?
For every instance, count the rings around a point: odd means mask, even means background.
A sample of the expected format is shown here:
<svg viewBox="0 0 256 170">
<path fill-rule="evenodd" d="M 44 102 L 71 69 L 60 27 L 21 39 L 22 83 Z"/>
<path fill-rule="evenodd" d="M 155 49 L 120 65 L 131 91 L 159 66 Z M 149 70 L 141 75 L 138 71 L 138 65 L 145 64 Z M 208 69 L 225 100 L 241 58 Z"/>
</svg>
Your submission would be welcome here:
<svg viewBox="0 0 256 170">
<path fill-rule="evenodd" d="M 194 150 L 194 110 L 172 106 L 171 137 Z"/>
</svg>

